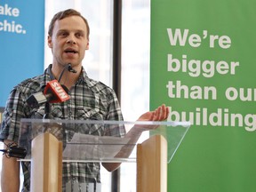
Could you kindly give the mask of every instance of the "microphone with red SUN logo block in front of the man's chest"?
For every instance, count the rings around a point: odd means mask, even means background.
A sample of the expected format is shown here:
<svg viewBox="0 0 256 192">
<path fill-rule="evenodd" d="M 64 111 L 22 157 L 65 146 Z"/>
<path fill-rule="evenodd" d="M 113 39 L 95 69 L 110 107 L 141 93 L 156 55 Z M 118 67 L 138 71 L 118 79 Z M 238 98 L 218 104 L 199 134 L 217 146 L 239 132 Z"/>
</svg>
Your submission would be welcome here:
<svg viewBox="0 0 256 192">
<path fill-rule="evenodd" d="M 70 99 L 68 88 L 61 85 L 56 79 L 48 82 L 44 88 L 44 92 L 36 92 L 26 100 L 32 108 L 38 108 L 45 102 L 60 103 Z"/>
</svg>

